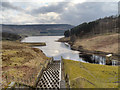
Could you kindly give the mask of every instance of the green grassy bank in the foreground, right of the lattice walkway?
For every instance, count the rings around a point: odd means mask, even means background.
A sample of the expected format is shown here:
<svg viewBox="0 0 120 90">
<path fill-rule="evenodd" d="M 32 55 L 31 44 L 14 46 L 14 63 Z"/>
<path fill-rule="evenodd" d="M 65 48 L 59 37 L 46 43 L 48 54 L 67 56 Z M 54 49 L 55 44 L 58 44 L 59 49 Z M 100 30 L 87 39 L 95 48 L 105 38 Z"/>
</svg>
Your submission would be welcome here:
<svg viewBox="0 0 120 90">
<path fill-rule="evenodd" d="M 118 66 L 83 63 L 63 59 L 65 77 L 71 88 L 117 88 Z"/>
</svg>

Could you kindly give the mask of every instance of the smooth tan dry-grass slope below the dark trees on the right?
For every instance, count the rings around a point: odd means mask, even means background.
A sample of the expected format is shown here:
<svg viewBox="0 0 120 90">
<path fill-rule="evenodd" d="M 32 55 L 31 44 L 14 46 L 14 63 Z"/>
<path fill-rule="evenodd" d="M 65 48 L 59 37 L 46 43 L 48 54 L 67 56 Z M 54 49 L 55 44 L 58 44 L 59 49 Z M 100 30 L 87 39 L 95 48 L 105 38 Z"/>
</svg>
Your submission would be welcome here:
<svg viewBox="0 0 120 90">
<path fill-rule="evenodd" d="M 118 53 L 118 34 L 77 39 L 74 45 L 76 47 L 83 46 L 84 49 L 88 50 Z"/>
</svg>

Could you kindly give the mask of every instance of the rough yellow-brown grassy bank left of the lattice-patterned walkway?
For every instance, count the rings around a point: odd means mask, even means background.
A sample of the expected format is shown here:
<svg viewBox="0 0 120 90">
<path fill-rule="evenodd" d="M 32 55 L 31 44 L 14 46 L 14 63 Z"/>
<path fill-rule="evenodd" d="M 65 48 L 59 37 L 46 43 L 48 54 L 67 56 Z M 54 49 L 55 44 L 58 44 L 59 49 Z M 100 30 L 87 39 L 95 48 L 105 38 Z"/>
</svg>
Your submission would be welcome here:
<svg viewBox="0 0 120 90">
<path fill-rule="evenodd" d="M 37 74 L 50 58 L 36 48 L 16 41 L 2 42 L 3 87 L 15 81 L 33 86 Z"/>
</svg>

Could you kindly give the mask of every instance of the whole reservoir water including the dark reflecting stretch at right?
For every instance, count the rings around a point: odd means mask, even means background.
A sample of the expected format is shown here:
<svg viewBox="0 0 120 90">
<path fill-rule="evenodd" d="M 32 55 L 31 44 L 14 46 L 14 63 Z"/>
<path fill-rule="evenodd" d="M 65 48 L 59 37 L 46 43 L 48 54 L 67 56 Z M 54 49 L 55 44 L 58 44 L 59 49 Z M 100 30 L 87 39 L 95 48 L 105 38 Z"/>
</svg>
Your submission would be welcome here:
<svg viewBox="0 0 120 90">
<path fill-rule="evenodd" d="M 61 60 L 61 56 L 64 59 L 71 59 L 75 61 L 82 61 L 88 63 L 102 64 L 106 65 L 105 57 L 98 55 L 91 55 L 87 60 L 80 58 L 79 52 L 71 50 L 70 45 L 67 43 L 56 42 L 59 38 L 63 36 L 30 36 L 23 39 L 21 42 L 45 42 L 46 46 L 35 46 L 34 48 L 41 49 L 46 56 L 53 57 L 54 60 Z M 112 65 L 116 65 L 117 62 L 112 61 Z"/>
</svg>

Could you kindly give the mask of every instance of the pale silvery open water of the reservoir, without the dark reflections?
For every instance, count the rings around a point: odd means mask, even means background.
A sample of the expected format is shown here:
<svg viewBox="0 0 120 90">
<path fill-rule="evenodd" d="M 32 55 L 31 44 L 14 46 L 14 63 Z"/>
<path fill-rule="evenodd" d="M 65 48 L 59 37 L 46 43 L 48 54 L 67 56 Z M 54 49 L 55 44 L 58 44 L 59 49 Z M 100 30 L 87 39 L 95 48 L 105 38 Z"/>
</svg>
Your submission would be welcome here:
<svg viewBox="0 0 120 90">
<path fill-rule="evenodd" d="M 62 56 L 65 59 L 83 61 L 79 57 L 79 52 L 71 50 L 70 45 L 56 42 L 61 37 L 63 36 L 31 36 L 25 38 L 22 42 L 45 42 L 46 46 L 37 46 L 35 48 L 41 49 L 46 56 L 54 57 L 55 60 L 60 60 Z"/>
</svg>

